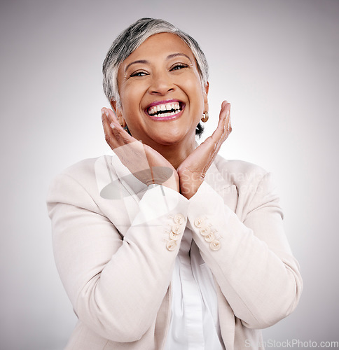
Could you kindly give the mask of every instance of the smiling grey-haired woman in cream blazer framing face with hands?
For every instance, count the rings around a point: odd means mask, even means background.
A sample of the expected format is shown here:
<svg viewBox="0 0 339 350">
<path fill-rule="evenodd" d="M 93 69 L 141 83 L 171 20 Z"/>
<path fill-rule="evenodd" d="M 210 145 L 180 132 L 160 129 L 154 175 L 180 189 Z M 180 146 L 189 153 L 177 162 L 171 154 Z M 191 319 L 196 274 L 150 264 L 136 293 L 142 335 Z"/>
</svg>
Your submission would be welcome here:
<svg viewBox="0 0 339 350">
<path fill-rule="evenodd" d="M 48 196 L 58 271 L 78 323 L 67 349 L 258 349 L 302 290 L 263 169 L 217 155 L 230 104 L 207 121 L 205 55 L 143 18 L 104 61 L 112 157 L 57 176 Z M 114 111 L 114 113 L 113 113 Z"/>
</svg>

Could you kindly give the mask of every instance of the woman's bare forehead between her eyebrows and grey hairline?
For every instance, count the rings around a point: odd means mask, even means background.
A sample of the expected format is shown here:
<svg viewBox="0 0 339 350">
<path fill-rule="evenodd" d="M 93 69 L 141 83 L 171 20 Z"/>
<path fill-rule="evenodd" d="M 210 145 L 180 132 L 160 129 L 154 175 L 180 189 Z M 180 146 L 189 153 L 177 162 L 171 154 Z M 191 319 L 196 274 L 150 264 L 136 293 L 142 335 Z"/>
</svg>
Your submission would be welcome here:
<svg viewBox="0 0 339 350">
<path fill-rule="evenodd" d="M 190 57 L 192 63 L 195 64 L 193 52 L 179 36 L 172 33 L 159 33 L 150 36 L 144 43 L 141 43 L 139 48 L 123 61 L 122 67 L 138 59 L 148 61 L 165 59 L 173 53 L 183 53 Z"/>
</svg>

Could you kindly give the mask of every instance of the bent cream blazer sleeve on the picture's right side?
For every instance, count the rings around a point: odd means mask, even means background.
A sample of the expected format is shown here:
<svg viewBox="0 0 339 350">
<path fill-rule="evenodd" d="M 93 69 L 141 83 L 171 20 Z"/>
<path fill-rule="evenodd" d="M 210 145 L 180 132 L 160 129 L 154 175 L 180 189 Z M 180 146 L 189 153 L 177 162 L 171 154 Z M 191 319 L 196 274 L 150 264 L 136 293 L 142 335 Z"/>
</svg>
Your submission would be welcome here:
<svg viewBox="0 0 339 350">
<path fill-rule="evenodd" d="M 247 328 L 260 329 L 295 309 L 303 282 L 284 235 L 282 210 L 270 173 L 247 186 L 245 192 L 238 193 L 244 207 L 242 218 L 238 218 L 219 193 L 202 183 L 190 200 L 188 225 L 235 316 Z M 201 234 L 201 222 L 219 241 L 214 250 Z"/>
</svg>

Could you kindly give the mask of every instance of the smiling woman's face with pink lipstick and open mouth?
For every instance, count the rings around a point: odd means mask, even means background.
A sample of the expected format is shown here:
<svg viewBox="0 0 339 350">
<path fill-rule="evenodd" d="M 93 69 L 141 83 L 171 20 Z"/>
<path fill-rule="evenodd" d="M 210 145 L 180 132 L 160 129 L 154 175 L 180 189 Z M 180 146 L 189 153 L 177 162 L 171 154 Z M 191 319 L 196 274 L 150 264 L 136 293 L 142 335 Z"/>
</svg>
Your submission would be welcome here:
<svg viewBox="0 0 339 350">
<path fill-rule="evenodd" d="M 118 70 L 121 108 L 113 108 L 132 136 L 155 149 L 195 142 L 195 128 L 208 110 L 207 90 L 188 45 L 171 33 L 155 34 Z"/>
</svg>

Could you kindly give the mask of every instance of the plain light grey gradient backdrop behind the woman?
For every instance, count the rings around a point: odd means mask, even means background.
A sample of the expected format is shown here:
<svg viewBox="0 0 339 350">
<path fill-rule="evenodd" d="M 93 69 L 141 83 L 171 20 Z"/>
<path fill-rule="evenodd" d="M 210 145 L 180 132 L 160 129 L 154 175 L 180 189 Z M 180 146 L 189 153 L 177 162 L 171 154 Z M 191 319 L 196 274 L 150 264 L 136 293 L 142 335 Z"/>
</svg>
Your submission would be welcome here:
<svg viewBox="0 0 339 350">
<path fill-rule="evenodd" d="M 210 120 L 232 103 L 221 154 L 275 173 L 300 261 L 296 311 L 266 340 L 338 335 L 339 1 L 1 1 L 0 349 L 56 350 L 76 322 L 53 260 L 50 180 L 110 153 L 101 65 L 141 17 L 195 37 L 210 65 Z"/>
</svg>

